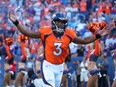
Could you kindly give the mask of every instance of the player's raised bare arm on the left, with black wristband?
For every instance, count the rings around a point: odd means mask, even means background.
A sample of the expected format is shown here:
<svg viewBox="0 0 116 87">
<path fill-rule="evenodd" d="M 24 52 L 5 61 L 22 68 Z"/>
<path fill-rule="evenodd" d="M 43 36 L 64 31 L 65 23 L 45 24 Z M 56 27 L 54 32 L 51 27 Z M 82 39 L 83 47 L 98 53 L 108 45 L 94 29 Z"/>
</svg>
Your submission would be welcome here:
<svg viewBox="0 0 116 87">
<path fill-rule="evenodd" d="M 35 31 L 31 31 L 29 29 L 27 29 L 26 26 L 21 25 L 16 16 L 9 13 L 9 19 L 13 22 L 13 24 L 15 24 L 15 26 L 17 27 L 17 29 L 24 34 L 25 36 L 31 37 L 31 38 L 40 38 L 40 33 L 39 32 L 35 32 Z"/>
</svg>

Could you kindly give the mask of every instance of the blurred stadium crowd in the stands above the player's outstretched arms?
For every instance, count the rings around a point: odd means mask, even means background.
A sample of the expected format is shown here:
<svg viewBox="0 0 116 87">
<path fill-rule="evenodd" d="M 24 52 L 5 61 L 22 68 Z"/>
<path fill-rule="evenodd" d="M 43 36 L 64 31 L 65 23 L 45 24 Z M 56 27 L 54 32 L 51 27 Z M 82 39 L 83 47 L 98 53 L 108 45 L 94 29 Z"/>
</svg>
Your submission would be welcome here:
<svg viewBox="0 0 116 87">
<path fill-rule="evenodd" d="M 8 12 L 15 12 L 18 20 L 34 31 L 38 31 L 40 26 L 51 26 L 54 12 L 65 12 L 68 26 L 86 37 L 90 35 L 87 31 L 90 22 L 114 22 L 115 7 L 115 0 L 0 0 L 0 30 L 18 36 L 17 29 L 7 17 Z"/>
</svg>

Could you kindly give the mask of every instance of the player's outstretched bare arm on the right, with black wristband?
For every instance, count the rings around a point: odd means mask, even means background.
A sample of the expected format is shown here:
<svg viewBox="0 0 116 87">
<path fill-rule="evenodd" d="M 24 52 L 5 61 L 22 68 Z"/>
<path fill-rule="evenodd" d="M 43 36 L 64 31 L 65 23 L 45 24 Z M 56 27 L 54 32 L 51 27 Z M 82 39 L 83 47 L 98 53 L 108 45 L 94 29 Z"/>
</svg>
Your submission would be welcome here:
<svg viewBox="0 0 116 87">
<path fill-rule="evenodd" d="M 94 36 L 89 36 L 89 37 L 84 38 L 84 39 L 80 38 L 80 37 L 76 37 L 73 42 L 76 44 L 89 44 L 89 43 L 92 43 L 95 40 L 97 40 L 103 36 L 106 36 L 109 33 L 109 31 L 110 31 L 110 26 L 107 25 L 102 30 L 97 31 Z"/>
</svg>

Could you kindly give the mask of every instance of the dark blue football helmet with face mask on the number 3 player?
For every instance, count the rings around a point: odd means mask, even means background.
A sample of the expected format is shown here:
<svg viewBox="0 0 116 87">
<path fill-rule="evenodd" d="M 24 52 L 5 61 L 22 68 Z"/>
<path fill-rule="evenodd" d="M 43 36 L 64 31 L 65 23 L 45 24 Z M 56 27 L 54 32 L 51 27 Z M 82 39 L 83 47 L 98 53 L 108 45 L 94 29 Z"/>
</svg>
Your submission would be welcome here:
<svg viewBox="0 0 116 87">
<path fill-rule="evenodd" d="M 67 27 L 68 19 L 64 13 L 57 12 L 52 16 L 52 29 L 56 30 L 59 33 L 65 31 Z"/>
</svg>

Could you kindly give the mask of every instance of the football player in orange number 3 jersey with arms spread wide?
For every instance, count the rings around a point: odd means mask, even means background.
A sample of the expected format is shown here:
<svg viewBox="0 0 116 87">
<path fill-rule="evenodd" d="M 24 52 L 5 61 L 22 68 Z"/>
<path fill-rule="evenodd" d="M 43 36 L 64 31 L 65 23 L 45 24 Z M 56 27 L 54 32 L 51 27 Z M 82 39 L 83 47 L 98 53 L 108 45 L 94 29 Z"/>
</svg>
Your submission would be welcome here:
<svg viewBox="0 0 116 87">
<path fill-rule="evenodd" d="M 97 31 L 94 36 L 85 39 L 76 36 L 74 29 L 67 27 L 65 13 L 57 12 L 52 16 L 52 27 L 44 26 L 38 32 L 30 31 L 21 25 L 16 16 L 9 13 L 9 19 L 25 36 L 40 38 L 44 46 L 44 60 L 41 65 L 44 87 L 59 87 L 63 75 L 63 65 L 67 57 L 69 44 L 88 44 L 108 34 L 109 25 Z"/>
</svg>

